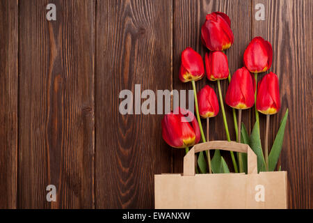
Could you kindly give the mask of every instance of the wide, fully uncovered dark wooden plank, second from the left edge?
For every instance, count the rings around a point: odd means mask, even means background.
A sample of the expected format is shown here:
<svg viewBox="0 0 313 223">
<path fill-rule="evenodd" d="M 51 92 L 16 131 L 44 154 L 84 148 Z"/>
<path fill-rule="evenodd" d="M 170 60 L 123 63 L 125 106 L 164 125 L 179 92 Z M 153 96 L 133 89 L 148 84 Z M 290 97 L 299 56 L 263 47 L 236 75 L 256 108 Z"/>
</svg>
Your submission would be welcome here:
<svg viewBox="0 0 313 223">
<path fill-rule="evenodd" d="M 94 53 L 94 1 L 19 1 L 19 208 L 94 206 Z"/>
</svg>

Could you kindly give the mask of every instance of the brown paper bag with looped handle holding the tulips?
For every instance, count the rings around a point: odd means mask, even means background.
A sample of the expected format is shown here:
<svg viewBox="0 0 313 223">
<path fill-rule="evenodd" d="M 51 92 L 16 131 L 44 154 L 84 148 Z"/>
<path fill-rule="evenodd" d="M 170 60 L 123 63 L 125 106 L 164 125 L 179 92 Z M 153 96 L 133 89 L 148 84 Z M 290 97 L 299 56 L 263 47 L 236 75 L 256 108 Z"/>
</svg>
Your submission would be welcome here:
<svg viewBox="0 0 313 223">
<path fill-rule="evenodd" d="M 195 174 L 195 153 L 210 149 L 248 153 L 248 174 Z M 287 208 L 287 172 L 257 174 L 250 146 L 209 141 L 184 157 L 184 174 L 154 176 L 155 208 Z"/>
</svg>

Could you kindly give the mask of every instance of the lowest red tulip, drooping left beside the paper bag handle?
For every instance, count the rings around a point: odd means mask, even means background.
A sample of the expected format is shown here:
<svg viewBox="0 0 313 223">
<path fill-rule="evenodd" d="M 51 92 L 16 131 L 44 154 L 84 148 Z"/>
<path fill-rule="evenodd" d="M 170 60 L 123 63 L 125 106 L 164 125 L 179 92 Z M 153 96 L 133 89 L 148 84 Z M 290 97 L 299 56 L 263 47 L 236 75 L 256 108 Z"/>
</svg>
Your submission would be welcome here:
<svg viewBox="0 0 313 223">
<path fill-rule="evenodd" d="M 192 112 L 175 109 L 164 116 L 161 124 L 162 137 L 172 147 L 186 148 L 200 141 L 200 128 Z"/>
</svg>

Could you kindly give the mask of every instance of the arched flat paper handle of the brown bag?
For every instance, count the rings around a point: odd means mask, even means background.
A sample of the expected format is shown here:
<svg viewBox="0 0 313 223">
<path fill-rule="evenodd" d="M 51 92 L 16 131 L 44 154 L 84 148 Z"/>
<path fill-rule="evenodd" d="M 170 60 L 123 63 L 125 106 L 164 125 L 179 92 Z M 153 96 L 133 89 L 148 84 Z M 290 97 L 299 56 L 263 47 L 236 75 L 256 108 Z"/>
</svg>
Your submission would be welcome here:
<svg viewBox="0 0 313 223">
<path fill-rule="evenodd" d="M 195 153 L 220 149 L 223 151 L 234 151 L 248 154 L 248 174 L 257 174 L 257 155 L 247 144 L 239 144 L 235 141 L 208 141 L 196 144 L 184 156 L 184 176 L 195 176 Z"/>
</svg>

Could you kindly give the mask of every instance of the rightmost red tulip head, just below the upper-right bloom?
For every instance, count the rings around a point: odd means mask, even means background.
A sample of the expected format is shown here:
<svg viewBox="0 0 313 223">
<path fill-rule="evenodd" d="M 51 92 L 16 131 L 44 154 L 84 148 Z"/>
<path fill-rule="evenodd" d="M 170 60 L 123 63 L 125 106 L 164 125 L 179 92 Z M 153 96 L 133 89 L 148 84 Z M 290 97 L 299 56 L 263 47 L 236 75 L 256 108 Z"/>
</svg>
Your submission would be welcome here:
<svg viewBox="0 0 313 223">
<path fill-rule="evenodd" d="M 280 87 L 273 72 L 265 75 L 259 83 L 257 110 L 263 114 L 275 114 L 280 110 Z"/>
</svg>

